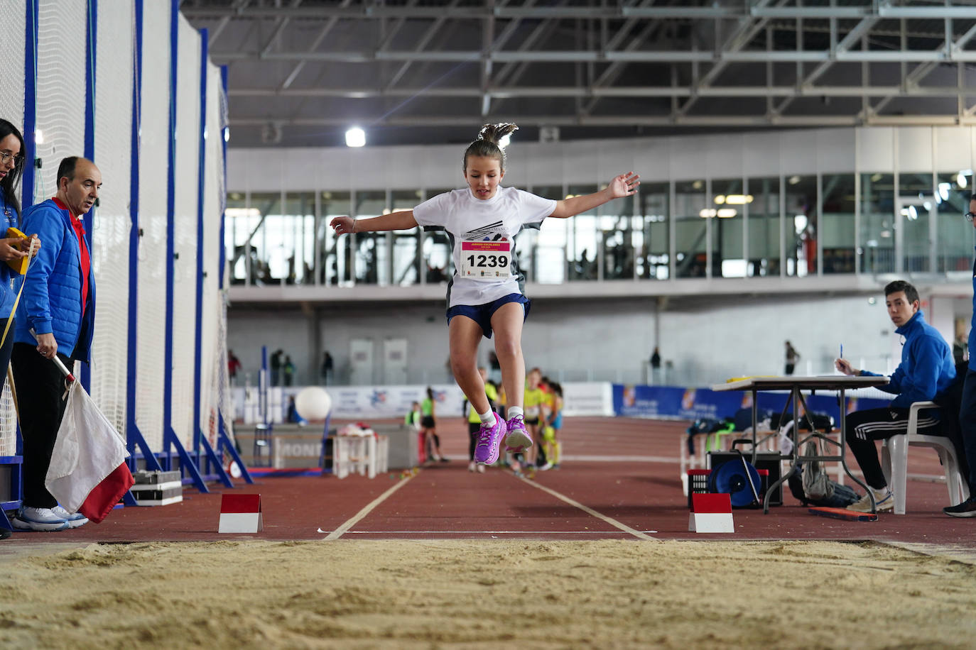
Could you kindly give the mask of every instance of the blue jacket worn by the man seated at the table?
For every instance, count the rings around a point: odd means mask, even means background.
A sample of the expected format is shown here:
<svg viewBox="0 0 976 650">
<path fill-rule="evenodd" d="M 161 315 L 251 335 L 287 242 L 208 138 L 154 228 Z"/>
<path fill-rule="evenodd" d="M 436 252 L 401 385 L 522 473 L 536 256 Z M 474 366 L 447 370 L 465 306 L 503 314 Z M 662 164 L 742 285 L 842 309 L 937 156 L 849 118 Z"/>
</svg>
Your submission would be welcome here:
<svg viewBox="0 0 976 650">
<path fill-rule="evenodd" d="M 938 329 L 925 323 L 920 309 L 895 332 L 905 337 L 902 363 L 891 374 L 891 381 L 877 388 L 898 395 L 891 401 L 895 408 L 908 408 L 915 401 L 934 400 L 956 378 L 952 348 Z M 874 375 L 874 372 L 861 370 L 861 374 Z"/>
</svg>

